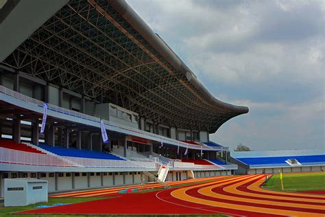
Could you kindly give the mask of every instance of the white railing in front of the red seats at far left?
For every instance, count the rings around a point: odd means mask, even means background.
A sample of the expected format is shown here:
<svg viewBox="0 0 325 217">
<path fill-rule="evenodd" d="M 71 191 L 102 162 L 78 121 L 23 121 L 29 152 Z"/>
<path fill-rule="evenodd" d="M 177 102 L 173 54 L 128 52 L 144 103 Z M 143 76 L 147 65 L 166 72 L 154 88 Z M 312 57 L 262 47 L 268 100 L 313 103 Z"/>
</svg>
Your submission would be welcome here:
<svg viewBox="0 0 325 217">
<path fill-rule="evenodd" d="M 0 148 L 0 163 L 75 167 L 75 165 L 67 163 L 66 161 L 62 161 L 61 159 L 58 159 L 57 157 L 51 155 L 24 152 L 20 150 L 12 150 L 9 148 Z"/>
</svg>

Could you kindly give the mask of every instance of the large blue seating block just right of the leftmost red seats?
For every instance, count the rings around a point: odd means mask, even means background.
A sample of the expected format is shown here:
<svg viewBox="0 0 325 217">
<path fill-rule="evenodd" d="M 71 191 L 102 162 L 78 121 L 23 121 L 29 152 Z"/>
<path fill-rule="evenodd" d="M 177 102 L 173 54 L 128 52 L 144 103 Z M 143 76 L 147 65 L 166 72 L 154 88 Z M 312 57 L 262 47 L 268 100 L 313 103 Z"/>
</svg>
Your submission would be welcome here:
<svg viewBox="0 0 325 217">
<path fill-rule="evenodd" d="M 107 152 L 90 151 L 84 149 L 78 150 L 76 148 L 62 148 L 60 146 L 52 147 L 47 145 L 39 145 L 39 147 L 59 156 L 125 161 L 125 159 L 121 159 L 121 157 L 117 157 Z"/>
</svg>

